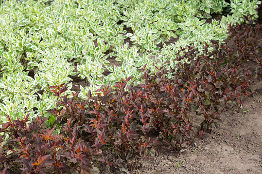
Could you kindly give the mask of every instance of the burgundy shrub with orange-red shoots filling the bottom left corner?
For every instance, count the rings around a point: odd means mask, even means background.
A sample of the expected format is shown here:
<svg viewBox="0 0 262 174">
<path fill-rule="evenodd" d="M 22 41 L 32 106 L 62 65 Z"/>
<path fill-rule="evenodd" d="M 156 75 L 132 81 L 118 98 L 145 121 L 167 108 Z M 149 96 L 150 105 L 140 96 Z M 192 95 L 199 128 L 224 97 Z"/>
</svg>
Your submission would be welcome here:
<svg viewBox="0 0 262 174">
<path fill-rule="evenodd" d="M 46 118 L 37 117 L 27 123 L 29 114 L 23 120 L 11 121 L 2 125 L 1 132 L 10 140 L 1 137 L 1 161 L 6 169 L 18 163 L 23 173 L 97 173 L 98 168 L 91 165 L 91 159 L 101 153 L 92 149 L 88 142 L 79 139 L 79 127 L 71 127 L 71 121 L 63 126 L 63 135 L 54 134 L 55 128 L 43 129 Z"/>
</svg>

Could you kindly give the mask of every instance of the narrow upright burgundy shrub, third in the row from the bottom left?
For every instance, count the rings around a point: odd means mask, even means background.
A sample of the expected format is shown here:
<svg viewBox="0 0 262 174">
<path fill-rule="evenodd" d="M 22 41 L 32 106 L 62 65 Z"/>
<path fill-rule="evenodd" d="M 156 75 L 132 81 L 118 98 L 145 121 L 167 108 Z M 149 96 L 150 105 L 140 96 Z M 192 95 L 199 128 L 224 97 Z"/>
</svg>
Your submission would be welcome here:
<svg viewBox="0 0 262 174">
<path fill-rule="evenodd" d="M 188 144 L 193 144 L 198 132 L 192 128 L 189 115 L 193 93 L 184 90 L 183 82 L 172 74 L 167 77 L 168 71 L 163 67 L 150 74 L 150 69 L 144 71 L 146 84 L 143 89 L 144 109 L 141 107 L 143 129 L 152 127 L 165 139 L 172 148 L 184 149 Z M 182 152 L 183 150 L 181 150 Z"/>
</svg>

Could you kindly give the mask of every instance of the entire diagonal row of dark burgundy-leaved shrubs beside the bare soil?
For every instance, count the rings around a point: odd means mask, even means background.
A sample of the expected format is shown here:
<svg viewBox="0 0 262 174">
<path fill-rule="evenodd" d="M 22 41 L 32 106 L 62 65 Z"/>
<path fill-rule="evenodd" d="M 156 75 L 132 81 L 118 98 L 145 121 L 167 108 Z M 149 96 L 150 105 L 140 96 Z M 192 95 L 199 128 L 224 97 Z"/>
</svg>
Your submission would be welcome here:
<svg viewBox="0 0 262 174">
<path fill-rule="evenodd" d="M 202 134 L 219 127 L 221 113 L 241 107 L 261 79 L 261 25 L 245 19 L 246 24 L 229 26 L 235 47 L 213 42 L 215 51 L 208 52 L 206 44 L 202 54 L 181 48 L 174 69 L 156 67 L 153 73 L 144 66 L 143 85 L 127 85 L 132 77 L 122 79 L 95 96 L 90 92 L 84 101 L 79 92 L 65 94 L 67 84 L 51 86 L 58 97 L 57 108 L 48 110 L 53 115 L 31 123 L 28 115 L 15 121 L 8 117 L 2 125 L 2 173 L 97 173 L 95 164 L 101 162 L 111 171 L 128 172 L 139 160 L 155 156 L 160 139 L 180 152 L 194 146 Z M 256 62 L 256 70 L 243 68 L 247 61 Z"/>
</svg>

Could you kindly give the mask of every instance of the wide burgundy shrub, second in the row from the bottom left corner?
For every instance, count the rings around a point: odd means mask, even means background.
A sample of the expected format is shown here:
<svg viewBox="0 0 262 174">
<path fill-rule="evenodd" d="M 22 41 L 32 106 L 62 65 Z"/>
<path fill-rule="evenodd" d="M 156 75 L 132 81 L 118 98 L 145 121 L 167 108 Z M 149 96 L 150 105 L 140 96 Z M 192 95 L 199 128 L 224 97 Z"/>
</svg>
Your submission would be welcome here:
<svg viewBox="0 0 262 174">
<path fill-rule="evenodd" d="M 116 167 L 125 172 L 132 170 L 139 159 L 154 156 L 154 144 L 158 142 L 158 138 L 147 137 L 140 130 L 138 109 L 133 104 L 142 95 L 132 95 L 131 98 L 132 86 L 128 86 L 129 92 L 125 91 L 130 79 L 132 77 L 116 83 L 115 89 L 100 88 L 96 90 L 96 96 L 89 91 L 85 101 L 79 101 L 79 92 L 68 98 L 64 94 L 66 84 L 50 87 L 59 100 L 57 109 L 48 110 L 56 115 L 55 124 L 71 121 L 71 126 L 78 127 L 79 136 L 90 142 L 92 149 L 113 147 L 113 157 L 103 155 L 98 160 L 107 163 L 111 169 Z"/>
</svg>

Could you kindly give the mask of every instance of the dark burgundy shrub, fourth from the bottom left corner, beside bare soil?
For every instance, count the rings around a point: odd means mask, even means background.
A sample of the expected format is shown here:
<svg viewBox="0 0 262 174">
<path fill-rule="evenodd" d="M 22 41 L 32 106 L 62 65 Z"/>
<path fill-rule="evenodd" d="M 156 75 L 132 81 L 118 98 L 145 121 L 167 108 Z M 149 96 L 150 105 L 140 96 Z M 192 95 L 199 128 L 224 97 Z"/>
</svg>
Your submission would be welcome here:
<svg viewBox="0 0 262 174">
<path fill-rule="evenodd" d="M 184 55 L 177 55 L 180 62 L 176 69 L 172 69 L 184 84 L 184 89 L 192 92 L 191 104 L 196 114 L 204 118 L 201 127 L 205 132 L 219 126 L 222 112 L 241 107 L 254 94 L 251 85 L 258 79 L 258 74 L 252 75 L 248 68 L 235 65 L 225 56 L 226 50 L 219 49 L 217 43 L 213 44 L 216 50 L 213 57 L 207 53 L 208 45 L 203 55 L 197 55 L 197 50 L 192 47 L 187 52 L 182 49 Z"/>
</svg>

